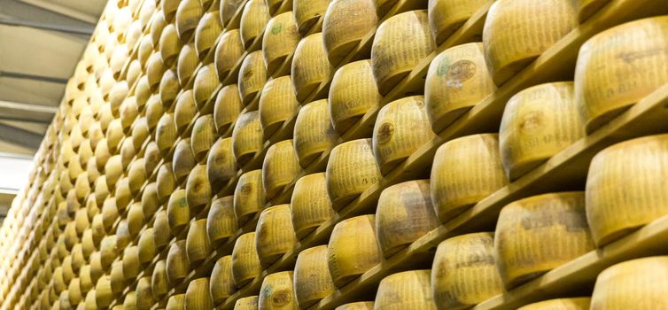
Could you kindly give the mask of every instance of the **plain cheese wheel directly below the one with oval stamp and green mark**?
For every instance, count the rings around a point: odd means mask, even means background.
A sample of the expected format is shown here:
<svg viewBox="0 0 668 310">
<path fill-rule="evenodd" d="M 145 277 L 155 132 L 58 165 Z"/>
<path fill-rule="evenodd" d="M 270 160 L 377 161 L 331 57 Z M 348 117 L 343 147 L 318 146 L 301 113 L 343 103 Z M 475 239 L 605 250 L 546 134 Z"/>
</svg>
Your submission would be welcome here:
<svg viewBox="0 0 668 310">
<path fill-rule="evenodd" d="M 431 202 L 444 223 L 508 183 L 501 165 L 499 136 L 464 136 L 436 151 L 431 167 Z"/>
</svg>

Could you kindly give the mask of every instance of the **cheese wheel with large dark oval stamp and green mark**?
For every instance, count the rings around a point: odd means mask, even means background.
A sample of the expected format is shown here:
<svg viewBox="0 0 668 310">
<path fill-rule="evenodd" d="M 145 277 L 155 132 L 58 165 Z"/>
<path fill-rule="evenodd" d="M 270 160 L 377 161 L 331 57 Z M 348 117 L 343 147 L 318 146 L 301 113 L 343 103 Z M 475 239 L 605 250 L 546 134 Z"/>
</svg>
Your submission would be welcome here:
<svg viewBox="0 0 668 310">
<path fill-rule="evenodd" d="M 482 43 L 466 43 L 444 50 L 431 61 L 424 85 L 431 128 L 437 133 L 443 131 L 495 90 Z"/>
</svg>

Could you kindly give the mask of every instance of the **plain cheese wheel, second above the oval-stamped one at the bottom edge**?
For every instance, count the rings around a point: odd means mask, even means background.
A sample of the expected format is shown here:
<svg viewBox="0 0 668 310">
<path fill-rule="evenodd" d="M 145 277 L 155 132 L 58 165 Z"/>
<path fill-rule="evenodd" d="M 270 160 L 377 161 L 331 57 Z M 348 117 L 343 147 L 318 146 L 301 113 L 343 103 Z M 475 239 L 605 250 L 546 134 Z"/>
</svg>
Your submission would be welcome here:
<svg viewBox="0 0 668 310">
<path fill-rule="evenodd" d="M 297 179 L 301 167 L 292 140 L 269 147 L 262 163 L 262 185 L 267 199 L 274 198 Z"/>
</svg>

